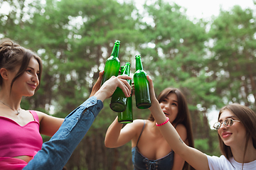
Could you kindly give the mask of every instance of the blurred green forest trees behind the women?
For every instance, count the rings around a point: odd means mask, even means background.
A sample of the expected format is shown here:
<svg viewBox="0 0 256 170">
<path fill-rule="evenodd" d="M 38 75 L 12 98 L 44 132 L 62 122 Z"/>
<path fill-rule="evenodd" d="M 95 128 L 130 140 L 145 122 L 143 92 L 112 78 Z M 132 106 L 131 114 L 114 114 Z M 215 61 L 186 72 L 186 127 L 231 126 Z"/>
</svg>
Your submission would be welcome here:
<svg viewBox="0 0 256 170">
<path fill-rule="evenodd" d="M 0 6 L 4 3 L 11 8 L 0 11 L 0 38 L 15 40 L 43 60 L 41 88 L 24 98 L 22 108 L 65 118 L 88 98 L 114 41 L 120 40 L 121 64 L 131 62 L 134 74 L 134 56 L 142 55 L 156 95 L 169 86 L 185 94 L 195 147 L 202 152 L 220 155 L 217 132 L 208 123 L 210 111 L 228 103 L 256 111 L 255 6 L 220 9 L 204 21 L 188 19 L 181 6 L 162 0 L 145 4 L 143 13 L 133 1 L 6 0 Z M 68 169 L 132 169 L 130 143 L 116 149 L 104 145 L 117 116 L 109 103 L 73 152 Z M 149 110 L 133 106 L 133 113 L 134 119 L 146 119 Z"/>
</svg>

